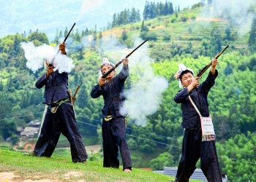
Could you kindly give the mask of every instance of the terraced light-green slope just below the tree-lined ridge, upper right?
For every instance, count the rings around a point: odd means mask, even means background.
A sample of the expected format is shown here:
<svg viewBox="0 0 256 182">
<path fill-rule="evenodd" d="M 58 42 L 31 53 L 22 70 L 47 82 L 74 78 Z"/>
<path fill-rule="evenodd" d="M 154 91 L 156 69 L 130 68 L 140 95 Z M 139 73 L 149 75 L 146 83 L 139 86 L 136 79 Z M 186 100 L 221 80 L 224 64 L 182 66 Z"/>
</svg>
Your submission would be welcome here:
<svg viewBox="0 0 256 182">
<path fill-rule="evenodd" d="M 211 31 L 214 27 L 219 28 L 222 38 L 225 38 L 227 35 L 225 29 L 227 28 L 228 20 L 222 20 L 220 18 L 207 18 L 204 17 L 202 13 L 203 7 L 195 9 L 184 9 L 178 13 L 178 17 L 173 15 L 156 17 L 151 20 L 146 20 L 144 24 L 148 27 L 149 31 L 155 31 L 157 33 L 157 41 L 152 41 L 152 44 L 172 44 L 178 43 L 181 45 L 186 45 L 191 42 L 193 47 L 197 48 L 201 44 L 202 39 L 210 39 Z M 187 17 L 187 21 L 183 22 L 182 17 Z M 195 20 L 193 20 L 195 18 Z M 174 22 L 172 23 L 172 21 Z M 141 22 L 121 25 L 111 30 L 105 31 L 102 35 L 105 34 L 116 34 L 121 36 L 122 31 L 125 29 L 128 31 L 129 35 L 135 33 L 140 33 Z M 189 33 L 189 28 L 191 28 L 191 33 Z M 249 28 L 243 27 L 239 28 L 236 25 L 230 25 L 231 35 L 236 37 L 235 41 L 223 41 L 222 45 L 231 44 L 234 48 L 243 47 L 249 37 Z M 236 34 L 238 33 L 238 34 Z M 163 36 L 170 34 L 170 41 L 163 41 Z M 149 40 L 150 41 L 150 40 Z"/>
</svg>

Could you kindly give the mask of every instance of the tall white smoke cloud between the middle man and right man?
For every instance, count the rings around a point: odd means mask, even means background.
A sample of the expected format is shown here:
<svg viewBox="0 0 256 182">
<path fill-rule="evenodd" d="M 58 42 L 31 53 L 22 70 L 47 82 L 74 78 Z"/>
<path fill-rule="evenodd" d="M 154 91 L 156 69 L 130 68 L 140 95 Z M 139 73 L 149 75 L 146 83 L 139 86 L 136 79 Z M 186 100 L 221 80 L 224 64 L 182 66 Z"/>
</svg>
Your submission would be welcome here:
<svg viewBox="0 0 256 182">
<path fill-rule="evenodd" d="M 141 44 L 137 39 L 135 45 Z M 151 67 L 154 59 L 149 57 L 148 44 L 143 44 L 131 55 L 129 61 L 130 75 L 137 77 L 132 81 L 128 90 L 124 90 L 127 98 L 121 114 L 129 114 L 129 119 L 135 121 L 138 126 L 146 126 L 147 116 L 154 114 L 162 103 L 162 92 L 168 87 L 165 77 L 155 76 Z"/>
</svg>

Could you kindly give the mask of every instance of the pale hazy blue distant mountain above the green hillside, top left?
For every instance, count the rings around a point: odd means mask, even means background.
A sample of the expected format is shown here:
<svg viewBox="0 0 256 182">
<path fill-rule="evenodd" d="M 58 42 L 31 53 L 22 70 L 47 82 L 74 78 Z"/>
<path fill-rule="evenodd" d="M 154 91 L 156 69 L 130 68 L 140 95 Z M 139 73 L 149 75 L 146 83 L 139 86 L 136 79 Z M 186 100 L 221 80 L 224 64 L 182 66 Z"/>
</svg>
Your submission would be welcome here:
<svg viewBox="0 0 256 182">
<path fill-rule="evenodd" d="M 157 0 L 154 0 L 157 1 Z M 165 2 L 165 0 L 159 0 Z M 176 1 L 176 0 L 175 0 Z M 176 1 L 176 6 L 187 7 L 200 0 Z M 106 28 L 114 13 L 135 8 L 143 12 L 146 0 L 56 0 L 56 1 L 22 1 L 0 0 L 0 37 L 8 34 L 43 31 L 51 40 L 55 30 L 64 30 L 66 26 L 77 23 L 75 28 Z M 185 5 L 186 3 L 186 5 Z M 136 4 L 136 6 L 135 6 Z M 39 15 L 37 16 L 37 13 Z"/>
</svg>

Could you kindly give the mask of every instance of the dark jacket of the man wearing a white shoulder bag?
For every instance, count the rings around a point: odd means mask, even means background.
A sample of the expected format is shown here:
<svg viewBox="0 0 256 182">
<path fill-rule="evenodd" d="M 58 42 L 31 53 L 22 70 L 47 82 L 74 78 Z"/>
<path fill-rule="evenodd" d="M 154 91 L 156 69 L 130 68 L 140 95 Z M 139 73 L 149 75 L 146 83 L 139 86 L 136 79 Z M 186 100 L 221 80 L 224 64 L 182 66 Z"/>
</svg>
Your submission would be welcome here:
<svg viewBox="0 0 256 182">
<path fill-rule="evenodd" d="M 210 73 L 208 74 L 206 80 L 199 85 L 199 87 L 193 89 L 191 92 L 188 92 L 187 87 L 183 90 L 179 90 L 176 96 L 174 97 L 174 101 L 176 103 L 181 103 L 181 110 L 183 113 L 181 127 L 186 129 L 195 129 L 200 128 L 200 116 L 197 114 L 194 106 L 189 100 L 189 95 L 194 101 L 195 105 L 200 111 L 202 116 L 209 116 L 208 109 L 208 92 L 211 87 L 215 84 L 215 79 L 218 76 L 218 71 L 215 71 L 215 75 Z"/>
</svg>

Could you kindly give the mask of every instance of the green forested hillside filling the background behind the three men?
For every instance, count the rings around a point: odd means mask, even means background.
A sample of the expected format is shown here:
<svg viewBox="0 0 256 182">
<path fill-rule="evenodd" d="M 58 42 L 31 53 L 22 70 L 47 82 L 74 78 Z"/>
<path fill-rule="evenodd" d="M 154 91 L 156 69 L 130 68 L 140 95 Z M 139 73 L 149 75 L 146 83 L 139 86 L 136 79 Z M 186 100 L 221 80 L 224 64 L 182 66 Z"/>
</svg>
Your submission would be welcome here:
<svg viewBox="0 0 256 182">
<path fill-rule="evenodd" d="M 219 76 L 208 95 L 217 133 L 217 152 L 222 173 L 226 173 L 230 181 L 256 181 L 256 19 L 252 19 L 248 27 L 242 27 L 241 33 L 241 26 L 232 23 L 231 17 L 203 17 L 202 10 L 212 9 L 211 4 L 206 7 L 206 4 L 198 3 L 183 10 L 174 8 L 165 15 L 159 14 L 160 7 L 167 4 L 170 8 L 171 3 L 160 4 L 148 2 L 143 20 L 126 23 L 124 19 L 130 14 L 127 9 L 122 9 L 120 12 L 123 13 L 116 12 L 119 23 L 113 16 L 108 30 L 77 30 L 68 38 L 68 55 L 75 64 L 69 74 L 69 88 L 75 91 L 80 84 L 75 111 L 83 141 L 86 145 L 101 143 L 102 98 L 91 99 L 90 92 L 98 82 L 98 65 L 102 57 L 117 63 L 132 51 L 132 47 L 148 39 L 129 57 L 130 76 L 126 90 L 132 92 L 132 89 L 142 88 L 135 100 L 155 91 L 154 95 L 140 102 L 140 108 L 146 105 L 140 113 L 146 116 L 146 123 L 138 124 L 132 114 L 128 114 L 127 140 L 132 162 L 135 167 L 150 166 L 154 170 L 177 166 L 183 135 L 181 106 L 173 100 L 179 90 L 178 82 L 173 78 L 178 63 L 184 63 L 196 73 L 229 44 L 219 58 Z M 152 11 L 148 12 L 148 9 Z M 152 12 L 157 13 L 153 15 Z M 255 15 L 255 7 L 249 12 Z M 43 90 L 37 90 L 34 83 L 45 69 L 33 73 L 26 67 L 20 42 L 32 41 L 37 47 L 42 44 L 56 46 L 67 31 L 67 28 L 56 31 L 56 39 L 51 43 L 41 31 L 33 31 L 27 36 L 16 33 L 0 39 L 0 136 L 3 140 L 11 137 L 13 143 L 17 142 L 16 127 L 25 127 L 31 120 L 42 119 L 44 110 Z M 150 74 L 151 71 L 154 74 Z M 156 79 L 167 82 L 167 87 L 154 82 Z M 164 89 L 158 90 L 159 87 Z M 154 104 L 158 107 L 148 114 L 150 101 L 157 94 L 160 101 Z M 197 167 L 200 167 L 199 163 Z"/>
</svg>

